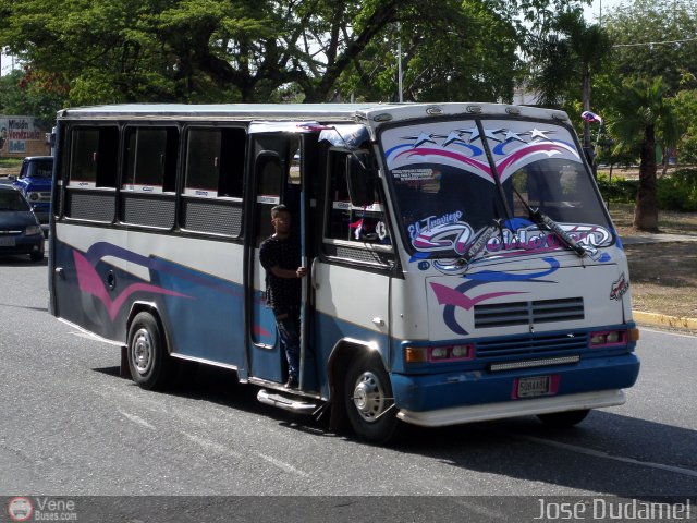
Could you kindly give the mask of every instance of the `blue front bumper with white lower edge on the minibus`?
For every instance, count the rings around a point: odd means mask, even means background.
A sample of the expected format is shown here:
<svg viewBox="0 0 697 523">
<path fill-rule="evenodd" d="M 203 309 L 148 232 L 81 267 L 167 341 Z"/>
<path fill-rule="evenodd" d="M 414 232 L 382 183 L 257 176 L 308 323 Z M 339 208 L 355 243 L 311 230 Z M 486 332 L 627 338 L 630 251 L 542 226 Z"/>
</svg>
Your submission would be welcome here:
<svg viewBox="0 0 697 523">
<path fill-rule="evenodd" d="M 621 389 L 632 387 L 639 372 L 634 354 L 587 360 L 573 368 L 548 367 L 518 373 L 448 373 L 392 375 L 398 417 L 438 427 L 553 412 L 599 409 L 624 403 Z M 553 394 L 515 399 L 519 378 L 553 376 Z"/>
</svg>

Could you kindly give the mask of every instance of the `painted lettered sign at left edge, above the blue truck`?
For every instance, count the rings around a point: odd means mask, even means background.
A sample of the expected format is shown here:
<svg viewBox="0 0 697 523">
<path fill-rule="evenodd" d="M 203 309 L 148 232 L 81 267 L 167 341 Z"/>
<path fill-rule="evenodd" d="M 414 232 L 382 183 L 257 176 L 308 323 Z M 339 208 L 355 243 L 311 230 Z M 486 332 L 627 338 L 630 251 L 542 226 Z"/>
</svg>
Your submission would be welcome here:
<svg viewBox="0 0 697 523">
<path fill-rule="evenodd" d="M 46 142 L 46 133 L 50 131 L 39 126 L 34 117 L 0 114 L 0 157 L 50 155 L 51 146 Z"/>
</svg>

